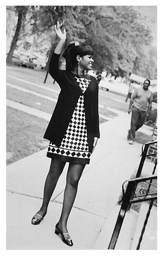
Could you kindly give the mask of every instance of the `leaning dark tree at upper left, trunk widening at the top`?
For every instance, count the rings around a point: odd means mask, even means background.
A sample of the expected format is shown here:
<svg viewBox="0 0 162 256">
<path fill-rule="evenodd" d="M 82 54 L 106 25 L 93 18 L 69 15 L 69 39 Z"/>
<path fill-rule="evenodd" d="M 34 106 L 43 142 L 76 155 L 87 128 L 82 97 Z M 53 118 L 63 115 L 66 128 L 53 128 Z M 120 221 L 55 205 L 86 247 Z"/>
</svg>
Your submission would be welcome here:
<svg viewBox="0 0 162 256">
<path fill-rule="evenodd" d="M 13 52 L 15 50 L 17 41 L 19 39 L 19 33 L 20 33 L 21 25 L 23 23 L 23 20 L 26 17 L 26 13 L 28 11 L 28 6 L 15 6 L 15 11 L 16 11 L 16 13 L 18 13 L 18 20 L 17 20 L 15 35 L 14 35 L 12 43 L 11 43 L 11 48 L 10 48 L 9 53 L 7 55 L 7 58 L 6 58 L 6 63 L 7 64 L 12 64 Z"/>
</svg>

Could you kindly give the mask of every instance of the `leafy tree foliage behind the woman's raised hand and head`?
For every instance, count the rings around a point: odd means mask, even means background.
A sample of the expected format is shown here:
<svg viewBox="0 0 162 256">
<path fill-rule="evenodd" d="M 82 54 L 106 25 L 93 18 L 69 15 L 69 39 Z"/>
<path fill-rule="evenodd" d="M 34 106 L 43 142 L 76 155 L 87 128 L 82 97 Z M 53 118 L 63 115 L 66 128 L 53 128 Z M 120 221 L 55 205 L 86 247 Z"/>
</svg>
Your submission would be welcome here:
<svg viewBox="0 0 162 256">
<path fill-rule="evenodd" d="M 27 16 L 30 34 L 36 39 L 45 35 L 51 51 L 58 43 L 53 26 L 64 20 L 67 43 L 76 40 L 94 48 L 96 70 L 105 69 L 121 77 L 132 72 L 156 78 L 151 29 L 132 6 L 31 6 Z"/>
</svg>

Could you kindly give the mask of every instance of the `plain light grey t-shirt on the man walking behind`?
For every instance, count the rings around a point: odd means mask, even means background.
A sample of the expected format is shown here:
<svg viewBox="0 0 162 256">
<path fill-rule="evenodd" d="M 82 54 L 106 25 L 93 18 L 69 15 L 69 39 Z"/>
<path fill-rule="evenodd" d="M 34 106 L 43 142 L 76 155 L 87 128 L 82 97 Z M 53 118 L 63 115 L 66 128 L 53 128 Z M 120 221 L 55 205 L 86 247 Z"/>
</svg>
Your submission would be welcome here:
<svg viewBox="0 0 162 256">
<path fill-rule="evenodd" d="M 153 101 L 153 94 L 148 90 L 144 90 L 143 87 L 136 88 L 132 94 L 133 106 L 141 111 L 147 110 L 148 101 Z"/>
</svg>

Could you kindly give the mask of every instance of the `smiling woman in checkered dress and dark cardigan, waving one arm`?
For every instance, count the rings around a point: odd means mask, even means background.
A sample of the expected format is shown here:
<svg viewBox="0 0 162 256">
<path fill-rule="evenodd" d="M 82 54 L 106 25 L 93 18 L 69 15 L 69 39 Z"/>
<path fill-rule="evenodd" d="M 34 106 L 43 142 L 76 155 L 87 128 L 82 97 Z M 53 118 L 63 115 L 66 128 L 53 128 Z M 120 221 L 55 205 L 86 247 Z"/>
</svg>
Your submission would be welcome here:
<svg viewBox="0 0 162 256">
<path fill-rule="evenodd" d="M 61 88 L 44 135 L 50 141 L 47 157 L 51 158 L 51 166 L 45 181 L 43 204 L 32 218 L 32 224 L 38 225 L 45 217 L 58 179 L 66 162 L 69 162 L 62 213 L 55 226 L 55 234 L 60 234 L 62 241 L 72 246 L 66 227 L 68 217 L 77 194 L 79 179 L 85 164 L 89 164 L 90 155 L 100 137 L 98 83 L 95 77 L 85 73 L 85 70 L 92 69 L 94 62 L 93 49 L 86 44 L 68 44 L 63 53 L 66 70 L 59 70 L 59 58 L 66 41 L 66 31 L 64 29 L 62 33 L 61 26 L 59 22 L 55 26 L 60 42 L 49 63 L 49 73 Z"/>
</svg>

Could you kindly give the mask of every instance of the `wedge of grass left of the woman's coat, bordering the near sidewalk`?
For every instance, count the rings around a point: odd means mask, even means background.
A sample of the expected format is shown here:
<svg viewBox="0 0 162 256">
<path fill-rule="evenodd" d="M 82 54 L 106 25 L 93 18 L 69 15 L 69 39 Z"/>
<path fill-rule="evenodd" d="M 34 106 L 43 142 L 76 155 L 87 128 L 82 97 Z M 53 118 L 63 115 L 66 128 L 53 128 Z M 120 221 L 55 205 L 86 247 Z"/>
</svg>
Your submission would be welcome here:
<svg viewBox="0 0 162 256">
<path fill-rule="evenodd" d="M 47 148 L 47 125 L 46 120 L 6 107 L 6 164 Z"/>
</svg>

